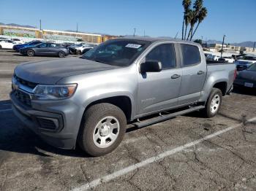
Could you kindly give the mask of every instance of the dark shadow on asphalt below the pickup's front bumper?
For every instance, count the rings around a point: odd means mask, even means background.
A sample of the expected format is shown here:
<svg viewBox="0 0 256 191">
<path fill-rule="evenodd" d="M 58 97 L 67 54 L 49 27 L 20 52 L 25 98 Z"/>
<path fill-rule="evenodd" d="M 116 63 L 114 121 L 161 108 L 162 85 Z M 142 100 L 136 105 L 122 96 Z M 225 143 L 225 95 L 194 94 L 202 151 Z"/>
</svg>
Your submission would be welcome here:
<svg viewBox="0 0 256 191">
<path fill-rule="evenodd" d="M 27 153 L 42 157 L 52 157 L 54 154 L 90 157 L 78 146 L 73 150 L 66 150 L 46 144 L 15 117 L 11 110 L 10 100 L 0 101 L 0 152 Z"/>
</svg>

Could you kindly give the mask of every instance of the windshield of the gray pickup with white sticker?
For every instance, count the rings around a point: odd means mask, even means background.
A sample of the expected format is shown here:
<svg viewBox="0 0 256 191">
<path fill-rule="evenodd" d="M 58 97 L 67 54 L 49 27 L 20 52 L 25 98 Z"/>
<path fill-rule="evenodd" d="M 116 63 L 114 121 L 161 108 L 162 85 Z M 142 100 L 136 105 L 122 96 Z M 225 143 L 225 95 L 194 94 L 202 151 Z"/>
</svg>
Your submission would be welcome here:
<svg viewBox="0 0 256 191">
<path fill-rule="evenodd" d="M 81 58 L 113 66 L 129 66 L 150 42 L 113 39 L 89 50 Z"/>
</svg>

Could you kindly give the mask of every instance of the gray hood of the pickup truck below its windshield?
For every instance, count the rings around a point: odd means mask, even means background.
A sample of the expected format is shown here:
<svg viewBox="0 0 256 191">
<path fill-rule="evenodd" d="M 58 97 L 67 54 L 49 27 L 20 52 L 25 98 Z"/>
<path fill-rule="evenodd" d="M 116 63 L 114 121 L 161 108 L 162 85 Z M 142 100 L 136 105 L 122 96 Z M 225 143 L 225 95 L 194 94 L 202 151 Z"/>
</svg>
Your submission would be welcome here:
<svg viewBox="0 0 256 191">
<path fill-rule="evenodd" d="M 15 74 L 29 82 L 56 84 L 64 77 L 117 68 L 118 66 L 82 58 L 61 58 L 58 60 L 21 63 L 15 68 Z"/>
</svg>

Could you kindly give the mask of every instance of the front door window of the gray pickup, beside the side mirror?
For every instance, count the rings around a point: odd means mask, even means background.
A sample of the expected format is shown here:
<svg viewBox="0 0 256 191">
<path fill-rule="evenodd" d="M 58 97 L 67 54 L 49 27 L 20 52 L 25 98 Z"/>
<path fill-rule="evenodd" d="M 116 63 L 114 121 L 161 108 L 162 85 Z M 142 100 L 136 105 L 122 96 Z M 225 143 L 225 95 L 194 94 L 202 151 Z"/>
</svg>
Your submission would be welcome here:
<svg viewBox="0 0 256 191">
<path fill-rule="evenodd" d="M 160 61 L 162 69 L 176 67 L 176 55 L 173 44 L 160 44 L 146 55 L 146 61 Z"/>
</svg>

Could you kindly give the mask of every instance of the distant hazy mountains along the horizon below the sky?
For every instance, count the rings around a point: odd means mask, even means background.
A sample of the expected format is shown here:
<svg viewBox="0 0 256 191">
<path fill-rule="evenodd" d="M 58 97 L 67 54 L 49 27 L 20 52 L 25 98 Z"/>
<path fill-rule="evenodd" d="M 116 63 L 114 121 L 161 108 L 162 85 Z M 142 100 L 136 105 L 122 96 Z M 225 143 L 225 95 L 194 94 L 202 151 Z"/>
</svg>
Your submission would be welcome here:
<svg viewBox="0 0 256 191">
<path fill-rule="evenodd" d="M 4 24 L 4 23 L 0 23 L 0 25 L 5 25 L 5 26 L 20 26 L 20 27 L 27 27 L 27 28 L 36 28 L 34 26 L 26 26 L 26 25 L 18 25 L 18 24 L 15 24 L 15 23 L 9 23 L 9 24 Z M 67 31 L 72 31 L 72 30 L 67 30 Z M 72 31 L 72 32 L 75 32 L 75 31 Z M 99 33 L 98 33 L 99 34 Z M 132 35 L 125 35 L 125 36 L 132 36 Z M 150 37 L 150 36 L 147 36 L 147 37 Z M 159 36 L 159 37 L 165 37 L 165 38 L 170 38 L 170 39 L 173 39 L 171 38 L 170 36 Z M 207 41 L 207 44 L 222 44 L 222 41 L 218 41 L 218 40 L 208 40 Z M 253 47 L 255 42 L 252 42 L 252 41 L 246 41 L 246 42 L 239 42 L 239 43 L 230 43 L 231 45 L 235 45 L 235 46 L 238 46 L 238 47 Z"/>
</svg>

